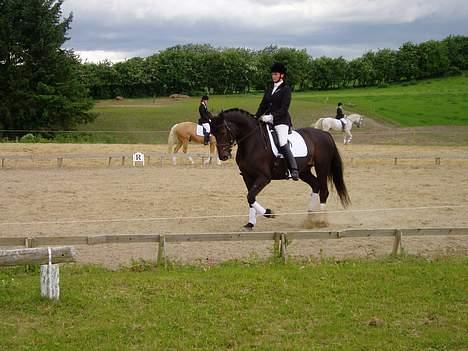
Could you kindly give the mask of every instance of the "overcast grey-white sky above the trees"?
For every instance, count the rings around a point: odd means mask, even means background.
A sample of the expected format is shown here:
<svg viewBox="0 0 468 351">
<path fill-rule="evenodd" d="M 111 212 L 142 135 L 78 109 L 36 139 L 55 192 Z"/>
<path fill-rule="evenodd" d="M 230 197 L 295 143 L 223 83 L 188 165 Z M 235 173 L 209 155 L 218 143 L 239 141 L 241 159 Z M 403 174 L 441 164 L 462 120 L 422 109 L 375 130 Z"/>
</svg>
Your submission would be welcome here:
<svg viewBox="0 0 468 351">
<path fill-rule="evenodd" d="M 468 35 L 467 0 L 65 0 L 83 60 L 120 61 L 178 44 L 353 58 L 405 41 Z"/>
</svg>

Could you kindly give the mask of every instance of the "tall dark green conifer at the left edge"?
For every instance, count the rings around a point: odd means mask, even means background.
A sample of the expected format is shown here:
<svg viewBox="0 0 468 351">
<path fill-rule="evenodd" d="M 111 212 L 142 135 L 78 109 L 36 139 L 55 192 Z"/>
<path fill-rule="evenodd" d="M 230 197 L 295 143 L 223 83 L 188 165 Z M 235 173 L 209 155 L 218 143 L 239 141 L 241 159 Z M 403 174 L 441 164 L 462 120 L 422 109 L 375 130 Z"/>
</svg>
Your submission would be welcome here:
<svg viewBox="0 0 468 351">
<path fill-rule="evenodd" d="M 80 61 L 62 49 L 63 0 L 0 0 L 0 129 L 73 128 L 92 121 Z"/>
</svg>

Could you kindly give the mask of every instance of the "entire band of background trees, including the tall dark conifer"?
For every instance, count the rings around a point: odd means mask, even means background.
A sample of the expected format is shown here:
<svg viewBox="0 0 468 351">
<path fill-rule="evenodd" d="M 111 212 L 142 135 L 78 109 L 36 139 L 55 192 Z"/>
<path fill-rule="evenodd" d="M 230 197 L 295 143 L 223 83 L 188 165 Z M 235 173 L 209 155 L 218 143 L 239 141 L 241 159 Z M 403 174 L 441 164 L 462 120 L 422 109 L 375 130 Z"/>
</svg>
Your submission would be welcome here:
<svg viewBox="0 0 468 351">
<path fill-rule="evenodd" d="M 69 39 L 63 0 L 0 0 L 0 135 L 14 130 L 69 130 L 91 122 L 93 99 L 172 93 L 236 94 L 263 90 L 275 61 L 296 90 L 386 85 L 468 69 L 468 37 L 404 43 L 398 50 L 344 58 L 305 50 L 178 45 L 124 62 L 83 63 Z M 2 132 L 8 130 L 8 134 Z"/>
</svg>

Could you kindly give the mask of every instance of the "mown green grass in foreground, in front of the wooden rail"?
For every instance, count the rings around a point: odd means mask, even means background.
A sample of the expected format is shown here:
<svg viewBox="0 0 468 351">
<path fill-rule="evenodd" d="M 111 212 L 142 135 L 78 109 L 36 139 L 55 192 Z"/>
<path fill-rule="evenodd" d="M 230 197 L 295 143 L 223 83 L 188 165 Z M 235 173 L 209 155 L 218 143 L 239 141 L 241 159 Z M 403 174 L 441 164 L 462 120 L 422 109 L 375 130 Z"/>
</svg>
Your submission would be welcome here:
<svg viewBox="0 0 468 351">
<path fill-rule="evenodd" d="M 464 350 L 468 258 L 0 270 L 2 350 Z M 371 326 L 372 318 L 383 321 Z"/>
</svg>

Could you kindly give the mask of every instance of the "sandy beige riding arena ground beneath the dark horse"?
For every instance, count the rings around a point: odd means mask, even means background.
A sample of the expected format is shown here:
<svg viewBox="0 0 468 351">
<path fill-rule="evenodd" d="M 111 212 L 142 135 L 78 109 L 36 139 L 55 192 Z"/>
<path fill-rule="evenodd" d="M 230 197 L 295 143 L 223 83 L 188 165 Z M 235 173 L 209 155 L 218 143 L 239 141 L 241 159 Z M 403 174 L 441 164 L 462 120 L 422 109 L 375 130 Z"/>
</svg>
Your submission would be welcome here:
<svg viewBox="0 0 468 351">
<path fill-rule="evenodd" d="M 274 181 L 258 201 L 278 213 L 259 218 L 256 232 L 372 228 L 468 227 L 466 147 L 348 145 L 338 143 L 352 205 L 344 210 L 332 190 L 328 225 L 314 227 L 306 213 L 310 190 L 303 182 Z M 191 152 L 207 152 L 191 145 Z M 0 238 L 104 234 L 237 232 L 247 221 L 246 190 L 233 160 L 204 167 L 169 157 L 145 167 L 115 159 L 64 159 L 67 154 L 146 154 L 165 145 L 0 144 Z M 395 159 L 397 158 L 397 159 Z M 439 160 L 437 160 L 439 159 Z M 162 161 L 162 162 L 161 162 Z M 440 164 L 439 164 L 440 163 Z M 290 256 L 374 257 L 392 251 L 393 238 L 292 241 Z M 79 260 L 116 267 L 132 259 L 154 260 L 157 244 L 78 246 Z M 468 236 L 404 237 L 410 254 L 468 253 Z M 171 261 L 212 264 L 271 255 L 265 241 L 167 244 Z M 105 254 L 103 254 L 105 253 Z"/>
</svg>

